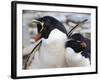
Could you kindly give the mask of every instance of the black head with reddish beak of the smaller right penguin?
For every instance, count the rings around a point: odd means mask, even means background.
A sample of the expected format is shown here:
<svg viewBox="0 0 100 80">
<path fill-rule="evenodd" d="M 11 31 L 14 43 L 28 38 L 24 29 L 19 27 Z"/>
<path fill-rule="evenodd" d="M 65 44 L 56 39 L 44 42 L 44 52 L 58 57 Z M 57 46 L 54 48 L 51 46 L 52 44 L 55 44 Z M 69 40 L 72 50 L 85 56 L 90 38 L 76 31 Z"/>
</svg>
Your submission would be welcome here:
<svg viewBox="0 0 100 80">
<path fill-rule="evenodd" d="M 76 53 L 83 51 L 87 45 L 84 42 L 84 37 L 80 33 L 73 34 L 69 41 L 66 43 L 66 47 L 71 47 Z"/>
</svg>

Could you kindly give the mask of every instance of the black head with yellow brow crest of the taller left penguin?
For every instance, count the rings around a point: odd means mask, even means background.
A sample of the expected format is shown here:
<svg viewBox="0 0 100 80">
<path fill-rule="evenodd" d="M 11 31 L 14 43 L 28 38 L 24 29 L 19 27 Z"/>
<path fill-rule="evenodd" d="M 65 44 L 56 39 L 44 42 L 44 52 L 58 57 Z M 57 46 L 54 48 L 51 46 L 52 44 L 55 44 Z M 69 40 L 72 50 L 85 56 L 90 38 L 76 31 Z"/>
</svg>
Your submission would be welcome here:
<svg viewBox="0 0 100 80">
<path fill-rule="evenodd" d="M 50 35 L 50 32 L 53 29 L 59 29 L 63 33 L 67 34 L 67 31 L 65 27 L 63 26 L 63 24 L 54 17 L 44 16 L 44 17 L 36 19 L 36 21 L 33 21 L 33 22 L 37 23 L 39 38 L 47 39 Z"/>
</svg>

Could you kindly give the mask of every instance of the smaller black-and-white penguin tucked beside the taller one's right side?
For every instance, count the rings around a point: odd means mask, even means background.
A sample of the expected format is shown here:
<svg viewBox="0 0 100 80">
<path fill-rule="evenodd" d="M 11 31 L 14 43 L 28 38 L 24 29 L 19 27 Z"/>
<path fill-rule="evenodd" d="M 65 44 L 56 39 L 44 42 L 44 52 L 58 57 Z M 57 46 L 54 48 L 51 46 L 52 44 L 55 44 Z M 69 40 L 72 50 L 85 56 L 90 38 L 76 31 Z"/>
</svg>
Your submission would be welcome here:
<svg viewBox="0 0 100 80">
<path fill-rule="evenodd" d="M 66 42 L 66 62 L 69 67 L 90 66 L 91 64 L 91 41 L 80 33 L 70 36 Z"/>
</svg>

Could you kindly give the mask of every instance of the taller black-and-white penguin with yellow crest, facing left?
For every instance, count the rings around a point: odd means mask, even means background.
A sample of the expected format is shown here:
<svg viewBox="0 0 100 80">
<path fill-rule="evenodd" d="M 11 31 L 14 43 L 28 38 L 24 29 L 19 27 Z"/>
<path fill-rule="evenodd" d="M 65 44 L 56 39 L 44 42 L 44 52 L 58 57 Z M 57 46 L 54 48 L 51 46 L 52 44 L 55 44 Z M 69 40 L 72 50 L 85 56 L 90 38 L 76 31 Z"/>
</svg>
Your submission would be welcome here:
<svg viewBox="0 0 100 80">
<path fill-rule="evenodd" d="M 28 69 L 65 67 L 65 43 L 67 31 L 63 24 L 54 17 L 44 16 L 33 20 L 37 24 L 38 34 L 33 38 L 42 40 L 39 51 Z"/>
</svg>

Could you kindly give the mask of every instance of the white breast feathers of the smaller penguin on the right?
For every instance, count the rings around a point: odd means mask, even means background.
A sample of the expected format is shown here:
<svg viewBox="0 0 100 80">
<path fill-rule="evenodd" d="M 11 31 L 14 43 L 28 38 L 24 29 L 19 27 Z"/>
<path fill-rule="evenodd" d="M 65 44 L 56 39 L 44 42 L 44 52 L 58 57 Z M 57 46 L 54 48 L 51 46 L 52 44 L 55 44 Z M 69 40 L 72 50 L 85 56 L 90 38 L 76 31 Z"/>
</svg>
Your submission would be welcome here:
<svg viewBox="0 0 100 80">
<path fill-rule="evenodd" d="M 75 53 L 70 47 L 66 49 L 65 57 L 69 67 L 90 66 L 88 58 L 82 56 L 81 52 Z"/>
</svg>

